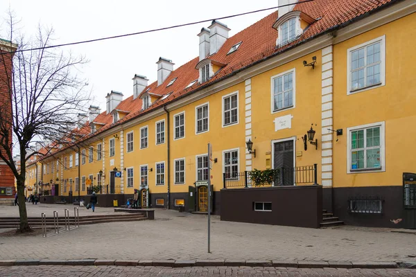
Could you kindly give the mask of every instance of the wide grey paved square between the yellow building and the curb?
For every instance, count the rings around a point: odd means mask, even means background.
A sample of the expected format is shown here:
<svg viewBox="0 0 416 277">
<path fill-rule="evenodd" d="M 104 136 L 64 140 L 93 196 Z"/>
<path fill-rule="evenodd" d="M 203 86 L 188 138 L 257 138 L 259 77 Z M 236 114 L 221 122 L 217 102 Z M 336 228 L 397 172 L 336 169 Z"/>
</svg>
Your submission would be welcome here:
<svg viewBox="0 0 416 277">
<path fill-rule="evenodd" d="M 97 213 L 101 209 L 97 208 Z M 0 233 L 0 260 L 416 262 L 413 234 L 383 229 L 306 229 L 222 222 L 218 216 L 211 217 L 211 253 L 207 253 L 206 215 L 157 210 L 155 216 L 155 220 L 139 222 L 81 225 L 79 229 L 48 238 L 42 235 L 2 237 Z"/>
</svg>

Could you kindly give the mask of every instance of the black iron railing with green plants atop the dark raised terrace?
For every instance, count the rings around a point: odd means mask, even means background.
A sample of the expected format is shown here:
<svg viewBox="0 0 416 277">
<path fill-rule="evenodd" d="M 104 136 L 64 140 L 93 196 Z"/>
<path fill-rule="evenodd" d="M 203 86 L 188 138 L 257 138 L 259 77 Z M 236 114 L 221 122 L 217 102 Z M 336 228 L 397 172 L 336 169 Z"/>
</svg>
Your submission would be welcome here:
<svg viewBox="0 0 416 277">
<path fill-rule="evenodd" d="M 224 188 L 318 184 L 318 165 L 223 173 Z"/>
</svg>

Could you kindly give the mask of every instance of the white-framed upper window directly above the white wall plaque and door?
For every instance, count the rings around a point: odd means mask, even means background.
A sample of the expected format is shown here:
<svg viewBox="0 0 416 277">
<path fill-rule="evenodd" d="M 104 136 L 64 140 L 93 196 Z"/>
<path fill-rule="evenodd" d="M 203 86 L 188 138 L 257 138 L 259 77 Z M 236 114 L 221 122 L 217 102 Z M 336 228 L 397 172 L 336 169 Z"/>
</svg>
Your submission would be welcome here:
<svg viewBox="0 0 416 277">
<path fill-rule="evenodd" d="M 272 77 L 272 111 L 293 107 L 295 100 L 295 69 Z"/>
</svg>

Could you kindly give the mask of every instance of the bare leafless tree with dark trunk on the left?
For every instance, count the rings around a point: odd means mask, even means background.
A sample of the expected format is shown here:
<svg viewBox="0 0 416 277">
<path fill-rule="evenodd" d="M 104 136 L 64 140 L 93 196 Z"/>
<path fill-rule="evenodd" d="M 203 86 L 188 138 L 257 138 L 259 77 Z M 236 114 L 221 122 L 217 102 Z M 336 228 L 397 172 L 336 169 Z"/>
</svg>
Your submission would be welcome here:
<svg viewBox="0 0 416 277">
<path fill-rule="evenodd" d="M 51 28 L 39 27 L 32 39 L 15 38 L 11 13 L 8 24 L 10 38 L 0 47 L 0 91 L 6 92 L 0 98 L 0 159 L 17 180 L 19 231 L 26 232 L 31 231 L 24 197 L 26 161 L 44 155 L 31 146 L 34 141 L 58 141 L 64 147 L 78 139 L 73 129 L 77 115 L 85 112 L 89 93 L 85 80 L 77 74 L 85 58 L 49 48 Z M 13 162 L 13 150 L 20 155 L 19 168 Z"/>
</svg>

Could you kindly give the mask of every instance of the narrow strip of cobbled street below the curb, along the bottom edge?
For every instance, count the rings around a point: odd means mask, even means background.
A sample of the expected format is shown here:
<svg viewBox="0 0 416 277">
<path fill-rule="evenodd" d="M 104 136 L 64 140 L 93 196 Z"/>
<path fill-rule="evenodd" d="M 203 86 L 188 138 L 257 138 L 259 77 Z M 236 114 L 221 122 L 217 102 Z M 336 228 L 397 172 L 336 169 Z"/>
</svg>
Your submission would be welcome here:
<svg viewBox="0 0 416 277">
<path fill-rule="evenodd" d="M 415 276 L 416 269 L 288 269 L 282 267 L 0 267 L 0 276 Z"/>
</svg>

